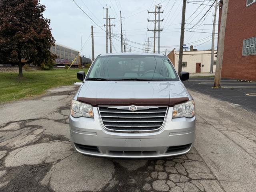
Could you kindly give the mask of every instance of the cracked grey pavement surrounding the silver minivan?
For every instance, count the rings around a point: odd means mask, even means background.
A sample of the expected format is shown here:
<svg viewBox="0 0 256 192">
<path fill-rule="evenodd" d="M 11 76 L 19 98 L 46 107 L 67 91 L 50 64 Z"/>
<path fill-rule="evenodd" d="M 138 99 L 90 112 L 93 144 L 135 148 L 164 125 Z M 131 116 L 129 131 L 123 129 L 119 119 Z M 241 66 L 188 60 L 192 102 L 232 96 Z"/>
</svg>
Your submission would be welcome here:
<svg viewBox="0 0 256 192">
<path fill-rule="evenodd" d="M 164 159 L 83 156 L 70 144 L 68 115 L 77 86 L 0 106 L 0 191 L 254 192 L 256 116 L 192 92 L 196 142 Z"/>
</svg>

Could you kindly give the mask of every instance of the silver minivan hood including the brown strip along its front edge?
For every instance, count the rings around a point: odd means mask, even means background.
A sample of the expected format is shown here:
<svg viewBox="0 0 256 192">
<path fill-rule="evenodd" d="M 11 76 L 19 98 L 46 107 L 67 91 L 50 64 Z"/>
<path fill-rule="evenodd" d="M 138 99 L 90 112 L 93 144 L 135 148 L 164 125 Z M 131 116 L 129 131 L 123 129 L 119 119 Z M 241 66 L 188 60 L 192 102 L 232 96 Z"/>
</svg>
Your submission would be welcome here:
<svg viewBox="0 0 256 192">
<path fill-rule="evenodd" d="M 167 105 L 188 100 L 180 81 L 86 81 L 77 100 L 97 105 Z"/>
</svg>

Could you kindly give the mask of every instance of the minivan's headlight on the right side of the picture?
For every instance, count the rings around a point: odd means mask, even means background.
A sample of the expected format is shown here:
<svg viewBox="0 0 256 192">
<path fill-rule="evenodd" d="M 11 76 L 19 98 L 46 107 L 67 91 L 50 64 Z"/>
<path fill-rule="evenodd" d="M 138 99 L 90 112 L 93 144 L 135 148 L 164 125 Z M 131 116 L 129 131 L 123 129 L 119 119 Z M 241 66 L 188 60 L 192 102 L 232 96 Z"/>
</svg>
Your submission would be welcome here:
<svg viewBox="0 0 256 192">
<path fill-rule="evenodd" d="M 195 104 L 194 100 L 190 100 L 186 103 L 174 105 L 172 118 L 178 117 L 194 117 L 195 116 Z"/>
</svg>

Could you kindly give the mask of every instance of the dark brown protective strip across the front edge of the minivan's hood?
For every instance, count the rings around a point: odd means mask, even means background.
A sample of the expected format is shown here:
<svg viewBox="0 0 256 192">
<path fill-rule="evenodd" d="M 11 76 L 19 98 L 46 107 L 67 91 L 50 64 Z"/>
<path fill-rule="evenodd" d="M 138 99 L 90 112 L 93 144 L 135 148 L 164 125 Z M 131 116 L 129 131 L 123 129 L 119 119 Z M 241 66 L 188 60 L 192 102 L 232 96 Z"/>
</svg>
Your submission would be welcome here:
<svg viewBox="0 0 256 192">
<path fill-rule="evenodd" d="M 137 105 L 137 106 L 169 106 L 172 107 L 175 104 L 180 104 L 188 101 L 188 97 L 181 98 L 152 98 L 152 99 L 110 99 L 110 98 L 86 98 L 86 97 L 78 97 L 78 101 L 85 102 L 92 106 L 100 106 L 100 105 L 109 105 L 109 106 L 129 106 L 129 105 Z"/>
</svg>

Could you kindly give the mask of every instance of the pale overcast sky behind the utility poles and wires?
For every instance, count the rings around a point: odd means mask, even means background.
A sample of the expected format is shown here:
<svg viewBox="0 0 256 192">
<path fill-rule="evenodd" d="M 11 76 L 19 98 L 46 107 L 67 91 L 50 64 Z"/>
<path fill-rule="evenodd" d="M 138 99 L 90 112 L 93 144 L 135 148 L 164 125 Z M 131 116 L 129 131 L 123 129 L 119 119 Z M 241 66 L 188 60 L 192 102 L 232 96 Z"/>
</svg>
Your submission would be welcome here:
<svg viewBox="0 0 256 192">
<path fill-rule="evenodd" d="M 147 31 L 147 28 L 154 29 L 153 20 L 154 14 L 149 14 L 147 10 L 154 11 L 156 4 L 162 5 L 160 19 L 160 28 L 163 31 L 160 33 L 160 51 L 170 52 L 173 48 L 179 49 L 180 43 L 180 27 L 182 17 L 182 0 L 75 0 L 82 10 L 94 20 L 102 29 L 106 24 L 106 5 L 111 7 L 108 16 L 116 18 L 111 20 L 111 24 L 116 24 L 112 27 L 114 37 L 112 38 L 112 52 L 121 52 L 120 42 L 120 10 L 122 11 L 122 30 L 126 41 L 127 50 L 132 47 L 132 52 L 143 52 L 148 37 L 153 37 L 152 31 Z M 41 0 L 41 4 L 46 6 L 44 17 L 51 20 L 50 27 L 52 35 L 56 43 L 81 50 L 82 32 L 82 49 L 83 55 L 92 57 L 91 46 L 91 26 L 94 26 L 94 54 L 95 57 L 101 53 L 106 53 L 106 32 L 98 27 L 72 0 Z M 210 5 L 214 0 L 188 0 L 186 4 L 186 24 L 185 30 L 194 32 L 185 32 L 184 44 L 186 46 L 194 45 L 198 50 L 207 50 L 211 48 L 212 24 L 214 15 L 214 6 Z M 202 4 L 202 5 L 200 5 Z M 207 10 L 210 11 L 206 14 Z M 204 14 L 206 14 L 204 16 Z M 204 17 L 203 17 L 204 16 Z M 194 26 L 201 18 L 203 19 Z M 216 33 L 218 32 L 218 10 L 216 18 Z M 193 27 L 194 26 L 194 27 Z M 157 24 L 158 27 L 158 24 Z M 193 27 L 192 29 L 190 29 Z M 158 36 L 158 33 L 157 33 Z M 217 38 L 217 34 L 216 34 Z M 153 45 L 153 38 L 149 39 Z M 109 41 L 108 41 L 109 42 Z M 217 48 L 215 40 L 215 49 Z M 151 46 L 152 46 L 151 45 Z M 156 52 L 158 40 L 156 39 Z M 153 51 L 153 47 L 150 47 Z M 108 52 L 109 45 L 108 45 Z"/>
</svg>

